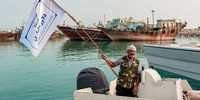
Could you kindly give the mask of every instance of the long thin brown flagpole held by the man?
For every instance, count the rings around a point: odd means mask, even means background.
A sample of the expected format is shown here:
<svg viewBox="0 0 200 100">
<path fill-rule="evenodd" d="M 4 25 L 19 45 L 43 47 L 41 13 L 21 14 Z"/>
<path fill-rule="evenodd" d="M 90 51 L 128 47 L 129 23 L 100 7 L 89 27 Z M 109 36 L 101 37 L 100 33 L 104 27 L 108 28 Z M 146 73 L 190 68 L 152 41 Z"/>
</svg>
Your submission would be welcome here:
<svg viewBox="0 0 200 100">
<path fill-rule="evenodd" d="M 53 0 L 54 1 L 54 0 Z M 54 1 L 55 2 L 55 1 Z M 56 2 L 55 2 L 55 4 L 57 4 Z M 58 4 L 57 4 L 58 5 Z M 61 9 L 63 9 L 60 5 L 58 5 Z M 99 49 L 99 47 L 96 45 L 96 43 L 92 40 L 92 38 L 87 34 L 87 32 L 82 28 L 82 26 L 80 25 L 80 23 L 78 22 L 78 21 L 76 21 L 76 19 L 73 17 L 73 16 L 71 16 L 65 9 L 63 9 L 63 11 L 81 28 L 81 30 L 85 33 L 85 35 L 87 35 L 87 37 L 92 41 L 92 43 L 93 43 L 93 45 L 98 49 L 98 51 L 99 51 L 99 53 L 101 54 L 101 56 L 102 55 L 104 55 L 102 52 L 101 52 L 101 50 Z M 108 62 L 106 62 L 107 64 L 108 64 L 108 66 L 110 67 L 110 69 L 113 71 L 113 73 L 117 76 L 117 77 L 119 77 L 118 75 L 117 75 L 117 73 L 113 70 L 113 68 L 112 68 L 112 66 L 111 66 L 111 64 L 109 64 Z"/>
</svg>

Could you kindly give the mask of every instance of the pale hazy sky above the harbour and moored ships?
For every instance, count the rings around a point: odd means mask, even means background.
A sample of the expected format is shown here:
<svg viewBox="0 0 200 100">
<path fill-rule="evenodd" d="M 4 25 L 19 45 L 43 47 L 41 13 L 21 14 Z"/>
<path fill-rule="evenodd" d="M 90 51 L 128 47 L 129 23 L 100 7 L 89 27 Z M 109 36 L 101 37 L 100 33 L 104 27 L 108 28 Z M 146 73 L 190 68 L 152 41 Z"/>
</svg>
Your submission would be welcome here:
<svg viewBox="0 0 200 100">
<path fill-rule="evenodd" d="M 0 29 L 15 29 L 28 19 L 34 0 L 0 0 Z M 200 0 L 55 0 L 84 25 L 118 17 L 134 17 L 152 22 L 155 19 L 175 18 L 187 21 L 187 28 L 200 26 Z M 66 15 L 66 24 L 74 22 Z M 61 22 L 62 23 L 62 22 Z"/>
</svg>

